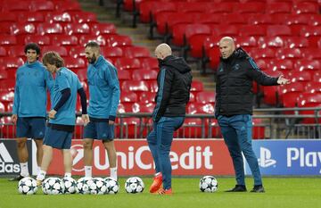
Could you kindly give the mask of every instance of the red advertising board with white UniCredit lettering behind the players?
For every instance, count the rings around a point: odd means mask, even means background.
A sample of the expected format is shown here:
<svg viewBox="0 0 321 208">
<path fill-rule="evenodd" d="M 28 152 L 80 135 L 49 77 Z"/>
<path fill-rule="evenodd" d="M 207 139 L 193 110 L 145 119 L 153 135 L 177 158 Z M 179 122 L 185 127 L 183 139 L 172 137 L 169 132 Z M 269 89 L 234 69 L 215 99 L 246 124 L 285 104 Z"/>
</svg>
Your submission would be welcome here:
<svg viewBox="0 0 321 208">
<path fill-rule="evenodd" d="M 152 175 L 154 164 L 145 139 L 115 140 L 119 176 Z M 108 156 L 101 142 L 93 146 L 93 174 L 109 175 Z M 84 150 L 81 140 L 73 140 L 73 175 L 84 175 Z M 223 140 L 176 139 L 173 141 L 170 161 L 173 175 L 232 175 L 233 164 Z M 63 174 L 62 154 L 54 151 L 48 174 Z"/>
</svg>

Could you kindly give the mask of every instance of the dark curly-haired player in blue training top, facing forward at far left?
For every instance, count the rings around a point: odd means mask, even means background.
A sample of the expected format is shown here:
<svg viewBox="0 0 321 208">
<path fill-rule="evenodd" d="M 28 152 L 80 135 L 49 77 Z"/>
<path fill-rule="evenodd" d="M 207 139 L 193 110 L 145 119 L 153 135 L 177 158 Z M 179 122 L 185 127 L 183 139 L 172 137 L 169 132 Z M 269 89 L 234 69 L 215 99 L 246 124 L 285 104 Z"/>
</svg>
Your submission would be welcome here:
<svg viewBox="0 0 321 208">
<path fill-rule="evenodd" d="M 14 88 L 12 122 L 17 127 L 17 152 L 21 162 L 21 174 L 10 180 L 20 180 L 29 176 L 26 146 L 27 138 L 33 138 L 37 146 L 38 169 L 43 156 L 45 136 L 46 87 L 50 82 L 48 71 L 38 62 L 40 47 L 35 43 L 25 46 L 27 62 L 18 68 Z"/>
</svg>

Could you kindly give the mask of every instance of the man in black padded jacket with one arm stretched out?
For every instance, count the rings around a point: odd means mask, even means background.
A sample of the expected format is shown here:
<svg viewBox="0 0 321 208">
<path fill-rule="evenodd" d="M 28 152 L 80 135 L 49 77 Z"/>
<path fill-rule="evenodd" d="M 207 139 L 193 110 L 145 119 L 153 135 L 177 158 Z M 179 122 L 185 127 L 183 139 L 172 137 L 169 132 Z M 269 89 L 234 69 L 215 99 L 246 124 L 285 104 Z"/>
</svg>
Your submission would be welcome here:
<svg viewBox="0 0 321 208">
<path fill-rule="evenodd" d="M 253 59 L 242 48 L 235 49 L 232 37 L 219 41 L 221 54 L 217 72 L 215 116 L 224 141 L 232 157 L 236 185 L 227 192 L 245 192 L 243 156 L 254 177 L 251 192 L 265 192 L 259 163 L 251 146 L 252 132 L 252 82 L 264 86 L 284 85 L 289 79 L 269 77 L 259 70 Z"/>
</svg>

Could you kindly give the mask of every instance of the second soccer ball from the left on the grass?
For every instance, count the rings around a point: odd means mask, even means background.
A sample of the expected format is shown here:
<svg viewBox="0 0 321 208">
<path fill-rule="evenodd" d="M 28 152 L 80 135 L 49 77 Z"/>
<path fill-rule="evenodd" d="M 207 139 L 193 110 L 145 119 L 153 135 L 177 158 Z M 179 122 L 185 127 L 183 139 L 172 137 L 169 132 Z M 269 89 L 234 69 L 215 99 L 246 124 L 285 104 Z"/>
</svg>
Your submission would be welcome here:
<svg viewBox="0 0 321 208">
<path fill-rule="evenodd" d="M 45 195 L 62 195 L 65 187 L 62 179 L 51 177 L 44 180 L 42 190 Z"/>
</svg>

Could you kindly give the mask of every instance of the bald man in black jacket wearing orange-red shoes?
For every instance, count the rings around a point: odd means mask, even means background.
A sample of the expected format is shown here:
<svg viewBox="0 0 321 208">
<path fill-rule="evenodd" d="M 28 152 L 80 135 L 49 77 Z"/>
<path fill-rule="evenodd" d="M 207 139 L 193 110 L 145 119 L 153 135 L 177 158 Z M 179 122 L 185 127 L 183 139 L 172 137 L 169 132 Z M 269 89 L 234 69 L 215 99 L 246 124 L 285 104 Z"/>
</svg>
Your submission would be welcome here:
<svg viewBox="0 0 321 208">
<path fill-rule="evenodd" d="M 159 60 L 160 71 L 156 105 L 152 112 L 153 129 L 147 137 L 156 172 L 150 192 L 171 195 L 169 152 L 174 131 L 185 120 L 185 106 L 189 101 L 193 77 L 191 68 L 183 58 L 172 55 L 169 45 L 157 46 L 155 56 Z"/>
</svg>

